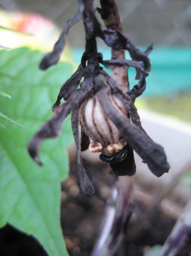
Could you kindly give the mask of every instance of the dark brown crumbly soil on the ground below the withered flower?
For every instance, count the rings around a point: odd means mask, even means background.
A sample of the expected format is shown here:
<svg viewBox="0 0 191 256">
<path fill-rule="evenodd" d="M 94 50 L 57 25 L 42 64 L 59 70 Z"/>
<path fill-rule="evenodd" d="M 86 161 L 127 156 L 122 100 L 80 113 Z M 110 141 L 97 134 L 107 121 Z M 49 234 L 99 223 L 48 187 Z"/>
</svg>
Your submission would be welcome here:
<svg viewBox="0 0 191 256">
<path fill-rule="evenodd" d="M 99 234 L 104 207 L 116 177 L 105 164 L 92 164 L 93 195 L 85 195 L 79 186 L 76 165 L 71 164 L 70 177 L 62 184 L 61 225 L 70 256 L 89 256 Z M 102 172 L 97 171 L 102 170 Z M 135 188 L 136 189 L 136 188 Z M 147 191 L 146 191 L 147 190 Z M 143 193 L 149 188 L 143 188 Z M 164 244 L 176 219 L 156 208 L 149 216 L 147 205 L 133 201 L 133 214 L 124 231 L 124 238 L 114 256 L 143 256 L 151 246 Z M 152 216 L 152 217 L 151 217 Z M 136 221 L 135 221 L 136 219 Z M 191 239 L 176 256 L 191 255 Z M 41 245 L 10 225 L 0 229 L 0 256 L 47 256 Z"/>
</svg>

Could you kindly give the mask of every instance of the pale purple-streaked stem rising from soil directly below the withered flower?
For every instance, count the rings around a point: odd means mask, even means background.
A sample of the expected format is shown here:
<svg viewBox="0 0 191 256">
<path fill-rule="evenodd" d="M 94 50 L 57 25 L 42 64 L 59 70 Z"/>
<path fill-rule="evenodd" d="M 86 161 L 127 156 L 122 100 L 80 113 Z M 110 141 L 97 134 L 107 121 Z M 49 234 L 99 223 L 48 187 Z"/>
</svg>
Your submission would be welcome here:
<svg viewBox="0 0 191 256">
<path fill-rule="evenodd" d="M 123 238 L 127 221 L 131 216 L 132 191 L 132 177 L 119 176 L 108 200 L 101 225 L 101 234 L 91 256 L 114 255 Z"/>
</svg>

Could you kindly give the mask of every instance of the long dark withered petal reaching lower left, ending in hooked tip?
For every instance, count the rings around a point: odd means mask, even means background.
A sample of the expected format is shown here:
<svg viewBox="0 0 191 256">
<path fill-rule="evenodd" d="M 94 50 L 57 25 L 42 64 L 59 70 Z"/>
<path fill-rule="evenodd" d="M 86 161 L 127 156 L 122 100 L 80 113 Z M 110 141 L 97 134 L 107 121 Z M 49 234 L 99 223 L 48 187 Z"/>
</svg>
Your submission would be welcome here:
<svg viewBox="0 0 191 256">
<path fill-rule="evenodd" d="M 84 87 L 73 92 L 71 97 L 67 102 L 62 104 L 60 107 L 56 109 L 53 113 L 51 119 L 46 122 L 31 139 L 28 144 L 28 151 L 31 157 L 34 159 L 36 163 L 41 165 L 41 161 L 39 159 L 39 148 L 43 139 L 57 137 L 60 134 L 60 130 L 63 126 L 64 119 L 70 114 L 70 112 L 85 99 L 87 99 L 92 93 L 93 82 L 92 82 L 92 74 L 94 72 L 94 65 L 89 65 L 85 69 L 85 81 Z"/>
</svg>

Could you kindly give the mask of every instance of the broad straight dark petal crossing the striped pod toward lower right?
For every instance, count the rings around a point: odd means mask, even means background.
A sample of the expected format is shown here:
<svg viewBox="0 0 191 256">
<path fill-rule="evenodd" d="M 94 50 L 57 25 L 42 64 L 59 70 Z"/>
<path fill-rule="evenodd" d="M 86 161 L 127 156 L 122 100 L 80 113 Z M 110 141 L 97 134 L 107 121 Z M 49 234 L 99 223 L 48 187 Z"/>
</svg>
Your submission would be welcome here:
<svg viewBox="0 0 191 256">
<path fill-rule="evenodd" d="M 167 163 L 163 147 L 153 142 L 141 129 L 132 125 L 128 119 L 124 118 L 109 101 L 108 92 L 108 88 L 97 92 L 97 97 L 106 116 L 118 127 L 118 130 L 123 134 L 129 146 L 147 163 L 153 174 L 159 177 L 164 172 L 168 172 L 170 166 Z"/>
</svg>

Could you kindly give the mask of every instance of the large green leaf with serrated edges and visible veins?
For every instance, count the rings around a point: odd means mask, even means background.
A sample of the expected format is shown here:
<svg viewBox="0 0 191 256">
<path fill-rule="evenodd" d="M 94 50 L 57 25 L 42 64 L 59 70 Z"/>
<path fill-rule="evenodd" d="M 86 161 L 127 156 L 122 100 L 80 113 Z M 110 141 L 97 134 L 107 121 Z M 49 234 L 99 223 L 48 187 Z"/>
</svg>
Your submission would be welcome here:
<svg viewBox="0 0 191 256">
<path fill-rule="evenodd" d="M 58 139 L 44 141 L 40 153 L 43 167 L 31 160 L 27 143 L 51 117 L 60 86 L 74 67 L 59 63 L 44 72 L 38 68 L 41 59 L 41 53 L 27 48 L 0 51 L 0 72 L 18 78 L 10 81 L 12 100 L 2 97 L 2 105 L 29 129 L 2 119 L 0 226 L 9 222 L 35 236 L 50 256 L 67 256 L 60 227 L 60 181 L 67 178 L 69 171 L 67 147 L 73 143 L 70 117 Z"/>
</svg>

